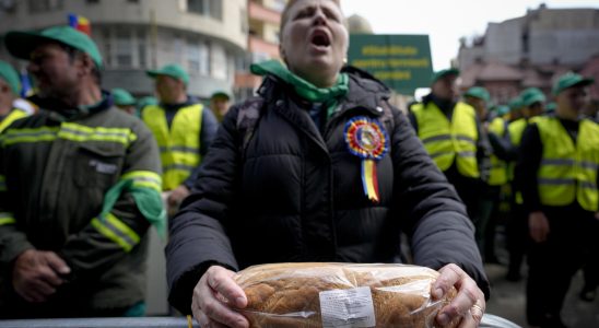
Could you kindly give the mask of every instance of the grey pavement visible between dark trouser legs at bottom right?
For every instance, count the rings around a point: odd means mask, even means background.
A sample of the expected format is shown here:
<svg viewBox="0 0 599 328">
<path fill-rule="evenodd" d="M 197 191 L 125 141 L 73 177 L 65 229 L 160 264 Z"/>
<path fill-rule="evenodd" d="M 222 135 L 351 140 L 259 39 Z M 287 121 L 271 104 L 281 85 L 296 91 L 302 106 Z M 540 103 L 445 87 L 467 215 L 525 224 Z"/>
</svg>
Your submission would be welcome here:
<svg viewBox="0 0 599 328">
<path fill-rule="evenodd" d="M 501 244 L 501 241 L 500 241 Z M 507 254 L 498 245 L 500 261 L 507 263 Z M 522 279 L 510 282 L 505 279 L 507 267 L 502 265 L 485 265 L 488 278 L 491 282 L 491 300 L 486 304 L 486 313 L 503 317 L 521 327 L 526 323 L 526 267 L 522 267 Z M 569 328 L 599 327 L 599 295 L 595 302 L 584 302 L 578 298 L 583 288 L 583 272 L 578 271 L 569 286 L 568 294 L 562 311 L 562 320 Z M 599 292 L 599 291 L 598 291 Z"/>
</svg>

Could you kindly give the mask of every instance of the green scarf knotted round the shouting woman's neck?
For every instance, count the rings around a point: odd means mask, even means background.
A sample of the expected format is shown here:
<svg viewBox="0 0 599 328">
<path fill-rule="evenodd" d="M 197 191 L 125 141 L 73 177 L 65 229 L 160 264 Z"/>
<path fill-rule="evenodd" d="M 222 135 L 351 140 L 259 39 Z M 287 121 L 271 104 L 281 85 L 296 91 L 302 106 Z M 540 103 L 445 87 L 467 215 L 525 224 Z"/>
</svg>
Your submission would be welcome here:
<svg viewBox="0 0 599 328">
<path fill-rule="evenodd" d="M 249 69 L 254 74 L 260 77 L 272 74 L 293 85 L 295 93 L 302 98 L 312 103 L 321 103 L 322 107 L 327 109 L 327 118 L 330 118 L 334 113 L 339 98 L 347 95 L 349 91 L 349 77 L 347 73 L 340 73 L 337 83 L 331 87 L 317 87 L 292 73 L 279 60 L 252 63 Z"/>
</svg>

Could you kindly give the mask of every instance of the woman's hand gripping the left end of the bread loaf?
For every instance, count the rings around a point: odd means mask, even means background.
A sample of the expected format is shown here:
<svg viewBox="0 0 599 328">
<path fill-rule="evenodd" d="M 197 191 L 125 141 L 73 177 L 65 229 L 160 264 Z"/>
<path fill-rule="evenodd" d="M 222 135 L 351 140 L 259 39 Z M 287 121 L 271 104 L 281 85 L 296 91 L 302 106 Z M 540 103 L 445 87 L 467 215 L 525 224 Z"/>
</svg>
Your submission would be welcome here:
<svg viewBox="0 0 599 328">
<path fill-rule="evenodd" d="M 235 272 L 220 266 L 212 266 L 193 289 L 191 313 L 202 328 L 249 327 L 247 319 L 232 307 L 244 308 L 247 297 L 244 290 L 233 280 Z M 226 300 L 225 304 L 221 300 Z"/>
</svg>

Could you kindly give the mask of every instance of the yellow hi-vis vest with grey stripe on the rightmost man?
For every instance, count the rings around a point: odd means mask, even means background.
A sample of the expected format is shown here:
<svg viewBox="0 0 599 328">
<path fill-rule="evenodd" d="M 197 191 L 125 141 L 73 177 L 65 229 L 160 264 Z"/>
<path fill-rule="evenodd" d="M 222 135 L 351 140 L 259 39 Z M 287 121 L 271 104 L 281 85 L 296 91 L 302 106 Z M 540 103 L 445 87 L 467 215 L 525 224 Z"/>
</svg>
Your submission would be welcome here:
<svg viewBox="0 0 599 328">
<path fill-rule="evenodd" d="M 543 144 L 538 173 L 541 203 L 567 206 L 576 200 L 583 209 L 596 212 L 599 126 L 582 120 L 576 144 L 557 118 L 539 118 L 537 127 Z"/>
</svg>

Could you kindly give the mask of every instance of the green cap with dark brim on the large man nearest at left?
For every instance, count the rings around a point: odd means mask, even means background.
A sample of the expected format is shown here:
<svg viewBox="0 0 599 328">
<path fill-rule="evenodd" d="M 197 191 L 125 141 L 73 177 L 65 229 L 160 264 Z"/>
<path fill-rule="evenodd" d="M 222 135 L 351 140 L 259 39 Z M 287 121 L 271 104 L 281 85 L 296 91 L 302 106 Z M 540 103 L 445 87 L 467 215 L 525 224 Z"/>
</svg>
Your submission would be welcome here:
<svg viewBox="0 0 599 328">
<path fill-rule="evenodd" d="M 7 49 L 12 56 L 25 60 L 40 44 L 57 42 L 87 54 L 97 68 L 102 68 L 102 55 L 96 44 L 86 34 L 71 26 L 54 26 L 42 32 L 11 31 L 4 37 Z"/>
</svg>

